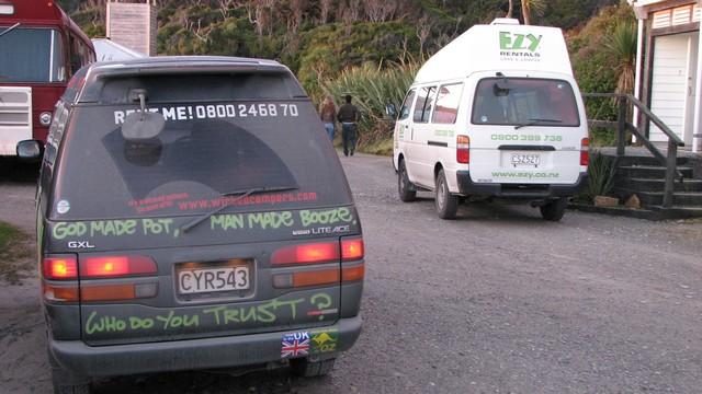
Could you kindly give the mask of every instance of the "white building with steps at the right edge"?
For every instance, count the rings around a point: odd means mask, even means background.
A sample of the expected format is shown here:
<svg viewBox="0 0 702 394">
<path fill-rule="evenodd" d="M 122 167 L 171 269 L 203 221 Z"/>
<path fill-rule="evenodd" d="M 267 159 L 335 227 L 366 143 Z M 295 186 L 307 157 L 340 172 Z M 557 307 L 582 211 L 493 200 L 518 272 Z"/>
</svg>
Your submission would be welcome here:
<svg viewBox="0 0 702 394">
<path fill-rule="evenodd" d="M 635 95 L 698 152 L 702 149 L 702 0 L 629 0 L 638 19 Z M 652 141 L 667 141 L 642 125 Z"/>
</svg>

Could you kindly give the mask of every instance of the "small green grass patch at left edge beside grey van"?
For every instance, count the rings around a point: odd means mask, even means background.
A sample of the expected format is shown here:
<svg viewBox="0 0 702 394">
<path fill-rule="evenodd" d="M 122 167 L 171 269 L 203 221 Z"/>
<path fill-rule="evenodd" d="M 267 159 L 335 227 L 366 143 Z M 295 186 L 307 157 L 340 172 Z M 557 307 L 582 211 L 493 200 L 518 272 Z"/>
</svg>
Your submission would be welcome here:
<svg viewBox="0 0 702 394">
<path fill-rule="evenodd" d="M 29 236 L 15 227 L 0 221 L 0 279 L 18 283 L 32 270 Z"/>
</svg>

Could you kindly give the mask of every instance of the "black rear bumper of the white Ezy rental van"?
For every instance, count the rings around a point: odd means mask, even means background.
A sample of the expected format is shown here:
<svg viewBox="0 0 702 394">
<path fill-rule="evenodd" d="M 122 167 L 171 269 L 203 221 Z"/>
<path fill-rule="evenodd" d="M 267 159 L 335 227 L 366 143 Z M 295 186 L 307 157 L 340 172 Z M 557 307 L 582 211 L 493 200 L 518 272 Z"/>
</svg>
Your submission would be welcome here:
<svg viewBox="0 0 702 394">
<path fill-rule="evenodd" d="M 574 184 L 478 184 L 471 178 L 469 171 L 457 171 L 458 192 L 466 196 L 494 196 L 514 199 L 540 199 L 570 197 L 580 193 L 588 184 L 588 173 L 582 172 Z"/>
</svg>

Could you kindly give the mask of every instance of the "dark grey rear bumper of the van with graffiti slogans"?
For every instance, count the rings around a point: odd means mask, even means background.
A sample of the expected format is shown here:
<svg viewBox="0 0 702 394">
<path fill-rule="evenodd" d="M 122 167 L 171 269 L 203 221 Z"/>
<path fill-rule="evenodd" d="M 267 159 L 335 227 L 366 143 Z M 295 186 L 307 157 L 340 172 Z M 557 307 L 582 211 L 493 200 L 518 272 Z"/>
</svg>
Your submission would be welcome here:
<svg viewBox="0 0 702 394">
<path fill-rule="evenodd" d="M 338 331 L 338 347 L 337 352 L 319 357 L 349 350 L 361 326 L 361 316 L 355 316 L 324 327 Z M 283 335 L 301 331 L 99 347 L 49 339 L 49 351 L 58 366 L 83 376 L 242 367 L 280 361 Z"/>
</svg>

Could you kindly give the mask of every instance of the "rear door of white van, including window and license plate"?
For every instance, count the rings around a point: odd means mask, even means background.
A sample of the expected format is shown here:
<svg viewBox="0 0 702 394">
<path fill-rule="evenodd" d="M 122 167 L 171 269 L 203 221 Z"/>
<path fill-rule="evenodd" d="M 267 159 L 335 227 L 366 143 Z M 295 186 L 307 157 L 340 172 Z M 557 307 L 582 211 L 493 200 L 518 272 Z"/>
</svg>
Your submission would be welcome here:
<svg viewBox="0 0 702 394">
<path fill-rule="evenodd" d="M 478 80 L 468 127 L 473 182 L 575 184 L 587 121 L 574 86 L 571 79 Z"/>
</svg>

